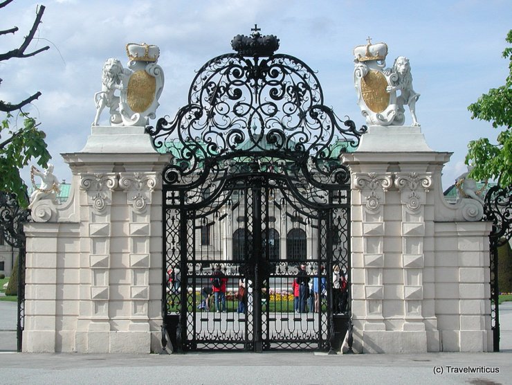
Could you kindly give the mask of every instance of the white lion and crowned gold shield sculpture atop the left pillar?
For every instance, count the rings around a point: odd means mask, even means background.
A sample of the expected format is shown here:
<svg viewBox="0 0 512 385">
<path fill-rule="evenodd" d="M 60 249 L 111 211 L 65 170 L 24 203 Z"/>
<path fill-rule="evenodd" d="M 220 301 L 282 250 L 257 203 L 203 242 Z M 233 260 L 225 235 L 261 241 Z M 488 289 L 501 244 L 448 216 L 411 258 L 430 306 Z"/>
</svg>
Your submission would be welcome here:
<svg viewBox="0 0 512 385">
<path fill-rule="evenodd" d="M 105 107 L 110 109 L 111 125 L 145 126 L 149 118 L 156 117 L 164 82 L 162 67 L 156 64 L 160 49 L 145 43 L 129 43 L 126 53 L 127 69 L 113 58 L 103 66 L 102 89 L 94 95 L 93 125 L 98 125 Z"/>
</svg>

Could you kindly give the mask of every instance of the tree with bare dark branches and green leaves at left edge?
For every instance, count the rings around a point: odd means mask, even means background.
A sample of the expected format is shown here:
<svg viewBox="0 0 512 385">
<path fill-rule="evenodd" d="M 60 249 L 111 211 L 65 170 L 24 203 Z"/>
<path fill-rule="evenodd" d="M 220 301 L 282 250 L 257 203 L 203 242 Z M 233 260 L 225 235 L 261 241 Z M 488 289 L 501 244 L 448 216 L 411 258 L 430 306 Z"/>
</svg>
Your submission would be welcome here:
<svg viewBox="0 0 512 385">
<path fill-rule="evenodd" d="M 13 0 L 1 1 L 0 10 L 12 1 Z M 41 23 L 44 9 L 44 6 L 40 6 L 37 9 L 33 26 L 30 28 L 28 35 L 24 37 L 20 46 L 5 53 L 0 53 L 0 62 L 16 57 L 24 58 L 34 56 L 50 48 L 49 46 L 45 46 L 36 51 L 26 53 L 28 46 L 34 39 L 37 27 Z M 8 33 L 16 33 L 17 30 L 18 27 L 0 30 L 0 37 Z M 0 79 L 0 83 L 1 81 Z M 28 114 L 22 110 L 24 106 L 33 102 L 33 100 L 39 98 L 39 96 L 41 96 L 41 93 L 36 92 L 32 96 L 15 104 L 0 100 L 0 111 L 6 113 L 0 125 L 0 190 L 15 193 L 18 197 L 19 204 L 23 207 L 28 205 L 26 199 L 27 186 L 21 179 L 19 170 L 28 165 L 31 159 L 37 159 L 37 164 L 42 167 L 46 167 L 48 160 L 51 159 L 51 155 L 48 153 L 48 150 L 46 150 L 46 143 L 44 141 L 46 134 L 37 128 L 38 125 L 35 123 L 35 119 L 28 116 Z M 17 111 L 17 116 L 20 116 L 23 120 L 23 124 L 17 124 L 17 119 L 14 119 L 15 116 L 13 115 L 15 111 Z"/>
</svg>

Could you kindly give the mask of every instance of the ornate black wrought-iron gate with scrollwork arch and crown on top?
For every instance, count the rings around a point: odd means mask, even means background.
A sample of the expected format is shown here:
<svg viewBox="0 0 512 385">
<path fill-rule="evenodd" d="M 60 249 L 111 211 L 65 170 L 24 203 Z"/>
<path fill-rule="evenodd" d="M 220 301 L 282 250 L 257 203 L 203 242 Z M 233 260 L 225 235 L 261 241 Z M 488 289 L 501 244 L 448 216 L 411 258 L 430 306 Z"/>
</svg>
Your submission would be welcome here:
<svg viewBox="0 0 512 385">
<path fill-rule="evenodd" d="M 199 70 L 174 120 L 147 129 L 173 154 L 163 171 L 164 349 L 170 339 L 182 351 L 333 350 L 347 331 L 349 293 L 333 288 L 333 269 L 348 280 L 350 271 L 339 159 L 365 127 L 337 118 L 309 66 L 253 31 Z"/>
</svg>

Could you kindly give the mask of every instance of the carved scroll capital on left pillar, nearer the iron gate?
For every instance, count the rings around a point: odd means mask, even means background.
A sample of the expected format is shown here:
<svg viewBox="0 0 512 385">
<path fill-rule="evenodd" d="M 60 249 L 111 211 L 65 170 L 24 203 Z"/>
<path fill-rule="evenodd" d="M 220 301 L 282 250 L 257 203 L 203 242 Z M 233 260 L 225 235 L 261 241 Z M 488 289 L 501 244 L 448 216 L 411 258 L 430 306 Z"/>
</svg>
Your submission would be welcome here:
<svg viewBox="0 0 512 385">
<path fill-rule="evenodd" d="M 128 203 L 136 213 L 143 213 L 151 204 L 152 193 L 160 182 L 156 173 L 122 172 L 119 179 L 120 188 L 126 191 Z"/>
</svg>

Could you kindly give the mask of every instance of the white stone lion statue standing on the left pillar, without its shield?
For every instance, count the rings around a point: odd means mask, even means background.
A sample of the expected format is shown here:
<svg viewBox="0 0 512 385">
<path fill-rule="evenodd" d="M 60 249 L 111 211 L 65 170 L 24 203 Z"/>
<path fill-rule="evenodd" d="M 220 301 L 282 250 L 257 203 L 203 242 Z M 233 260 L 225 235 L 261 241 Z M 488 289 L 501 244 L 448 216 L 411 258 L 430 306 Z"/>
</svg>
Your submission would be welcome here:
<svg viewBox="0 0 512 385">
<path fill-rule="evenodd" d="M 105 107 L 110 108 L 111 123 L 120 123 L 121 115 L 118 111 L 119 96 L 114 96 L 116 89 L 124 89 L 123 78 L 128 75 L 129 70 L 123 69 L 119 60 L 110 58 L 103 65 L 102 71 L 102 87 L 100 92 L 94 94 L 96 105 L 96 116 L 93 125 L 98 125 L 100 115 Z"/>
</svg>

